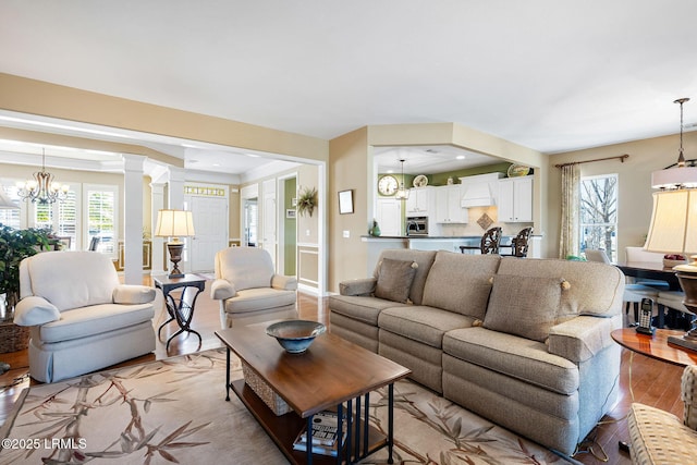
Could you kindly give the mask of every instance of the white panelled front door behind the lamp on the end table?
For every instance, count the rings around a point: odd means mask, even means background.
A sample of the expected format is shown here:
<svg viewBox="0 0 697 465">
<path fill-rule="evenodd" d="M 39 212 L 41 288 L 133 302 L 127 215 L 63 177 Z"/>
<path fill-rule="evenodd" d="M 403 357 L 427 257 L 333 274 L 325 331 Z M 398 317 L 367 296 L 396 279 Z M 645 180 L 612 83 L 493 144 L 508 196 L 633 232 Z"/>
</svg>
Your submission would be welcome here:
<svg viewBox="0 0 697 465">
<path fill-rule="evenodd" d="M 216 253 L 228 247 L 228 200 L 193 197 L 196 236 L 191 241 L 192 271 L 212 271 Z"/>
</svg>

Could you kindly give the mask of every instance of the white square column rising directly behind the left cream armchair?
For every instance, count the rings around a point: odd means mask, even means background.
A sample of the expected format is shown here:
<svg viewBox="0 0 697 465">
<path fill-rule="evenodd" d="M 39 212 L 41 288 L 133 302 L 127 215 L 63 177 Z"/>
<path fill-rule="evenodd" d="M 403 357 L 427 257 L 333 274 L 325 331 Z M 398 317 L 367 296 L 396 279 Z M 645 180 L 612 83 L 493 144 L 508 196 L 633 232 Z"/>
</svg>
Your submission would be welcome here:
<svg viewBox="0 0 697 465">
<path fill-rule="evenodd" d="M 124 198 L 124 283 L 143 283 L 143 164 L 145 157 L 122 154 Z"/>
</svg>

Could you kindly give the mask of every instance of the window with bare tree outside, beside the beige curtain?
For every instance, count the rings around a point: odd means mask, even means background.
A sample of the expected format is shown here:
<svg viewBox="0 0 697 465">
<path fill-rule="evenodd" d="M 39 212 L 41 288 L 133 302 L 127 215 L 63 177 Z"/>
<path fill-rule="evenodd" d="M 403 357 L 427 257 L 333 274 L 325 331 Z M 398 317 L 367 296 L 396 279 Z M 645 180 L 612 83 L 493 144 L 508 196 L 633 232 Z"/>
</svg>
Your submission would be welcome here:
<svg viewBox="0 0 697 465">
<path fill-rule="evenodd" d="M 611 261 L 617 259 L 617 175 L 583 178 L 580 181 L 580 252 L 606 250 Z"/>
</svg>

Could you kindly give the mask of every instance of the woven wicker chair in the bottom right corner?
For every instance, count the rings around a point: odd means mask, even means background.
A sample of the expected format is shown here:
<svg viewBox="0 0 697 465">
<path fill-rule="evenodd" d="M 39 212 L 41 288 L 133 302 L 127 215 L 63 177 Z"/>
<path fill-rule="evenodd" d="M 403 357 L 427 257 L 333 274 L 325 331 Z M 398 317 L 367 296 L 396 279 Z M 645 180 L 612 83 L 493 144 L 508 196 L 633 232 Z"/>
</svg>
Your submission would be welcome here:
<svg viewBox="0 0 697 465">
<path fill-rule="evenodd" d="M 648 405 L 634 403 L 627 425 L 632 463 L 682 465 L 697 461 L 697 366 L 685 367 L 682 379 L 683 420 Z"/>
</svg>

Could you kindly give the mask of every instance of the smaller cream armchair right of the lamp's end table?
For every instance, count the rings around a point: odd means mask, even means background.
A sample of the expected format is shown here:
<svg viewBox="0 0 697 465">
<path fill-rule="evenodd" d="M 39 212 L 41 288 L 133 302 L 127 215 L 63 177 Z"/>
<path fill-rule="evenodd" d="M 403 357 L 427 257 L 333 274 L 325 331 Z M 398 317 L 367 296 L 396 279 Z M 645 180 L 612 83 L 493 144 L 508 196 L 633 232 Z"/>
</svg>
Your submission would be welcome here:
<svg viewBox="0 0 697 465">
<path fill-rule="evenodd" d="M 277 274 L 262 248 L 230 247 L 216 254 L 210 296 L 220 301 L 222 328 L 297 318 L 297 279 Z"/>
</svg>

